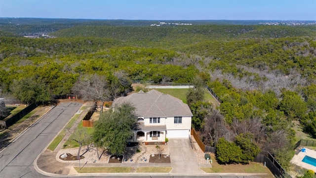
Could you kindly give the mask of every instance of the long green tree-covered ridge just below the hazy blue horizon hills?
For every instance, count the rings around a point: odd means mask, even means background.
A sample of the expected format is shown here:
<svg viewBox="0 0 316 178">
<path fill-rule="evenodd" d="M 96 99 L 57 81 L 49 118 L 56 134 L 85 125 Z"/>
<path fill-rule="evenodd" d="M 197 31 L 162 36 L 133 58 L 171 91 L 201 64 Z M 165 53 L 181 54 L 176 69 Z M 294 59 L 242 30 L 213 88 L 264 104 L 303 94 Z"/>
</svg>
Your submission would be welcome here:
<svg viewBox="0 0 316 178">
<path fill-rule="evenodd" d="M 164 27 L 76 26 L 56 37 L 110 38 L 141 46 L 173 47 L 205 41 L 316 36 L 315 26 L 192 25 Z M 175 45 L 176 43 L 176 45 Z"/>
</svg>

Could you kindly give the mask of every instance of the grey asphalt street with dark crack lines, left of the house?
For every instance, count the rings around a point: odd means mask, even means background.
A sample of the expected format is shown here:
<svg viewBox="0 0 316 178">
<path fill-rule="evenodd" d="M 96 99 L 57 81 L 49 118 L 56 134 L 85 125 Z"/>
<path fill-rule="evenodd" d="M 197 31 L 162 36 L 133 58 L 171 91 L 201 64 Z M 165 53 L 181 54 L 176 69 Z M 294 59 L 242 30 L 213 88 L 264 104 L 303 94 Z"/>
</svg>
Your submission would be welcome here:
<svg viewBox="0 0 316 178">
<path fill-rule="evenodd" d="M 33 162 L 81 103 L 60 103 L 0 152 L 0 178 L 42 178 Z"/>
</svg>

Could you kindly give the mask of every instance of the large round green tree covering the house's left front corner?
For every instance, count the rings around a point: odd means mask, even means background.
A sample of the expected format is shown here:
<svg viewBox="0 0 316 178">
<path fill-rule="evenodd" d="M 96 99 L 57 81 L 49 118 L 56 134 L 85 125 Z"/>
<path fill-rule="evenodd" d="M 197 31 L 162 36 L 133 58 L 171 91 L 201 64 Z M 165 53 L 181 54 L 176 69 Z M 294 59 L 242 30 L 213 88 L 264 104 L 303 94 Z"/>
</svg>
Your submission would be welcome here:
<svg viewBox="0 0 316 178">
<path fill-rule="evenodd" d="M 130 103 L 122 103 L 102 113 L 94 125 L 93 141 L 113 155 L 122 155 L 133 130 L 137 129 L 134 110 Z"/>
</svg>

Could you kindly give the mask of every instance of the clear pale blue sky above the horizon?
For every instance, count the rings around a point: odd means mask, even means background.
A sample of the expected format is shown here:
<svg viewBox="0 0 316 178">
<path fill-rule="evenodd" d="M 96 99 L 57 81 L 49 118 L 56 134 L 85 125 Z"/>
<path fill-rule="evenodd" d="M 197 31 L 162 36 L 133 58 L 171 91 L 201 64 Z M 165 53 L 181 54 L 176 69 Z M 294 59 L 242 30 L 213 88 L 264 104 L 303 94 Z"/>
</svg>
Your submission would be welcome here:
<svg viewBox="0 0 316 178">
<path fill-rule="evenodd" d="M 316 0 L 0 0 L 0 17 L 316 20 Z"/>
</svg>

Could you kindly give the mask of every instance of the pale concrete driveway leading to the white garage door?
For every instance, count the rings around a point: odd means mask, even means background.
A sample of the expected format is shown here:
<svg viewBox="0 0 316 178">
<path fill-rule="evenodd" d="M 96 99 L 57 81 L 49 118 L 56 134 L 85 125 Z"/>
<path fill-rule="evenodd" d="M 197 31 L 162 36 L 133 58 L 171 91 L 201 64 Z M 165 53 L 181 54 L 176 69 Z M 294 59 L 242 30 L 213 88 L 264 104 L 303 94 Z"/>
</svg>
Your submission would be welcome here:
<svg viewBox="0 0 316 178">
<path fill-rule="evenodd" d="M 190 140 L 169 138 L 168 147 L 172 170 L 177 175 L 205 174 L 199 169 L 196 155 L 191 147 Z"/>
</svg>

